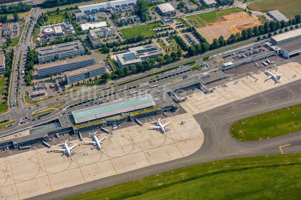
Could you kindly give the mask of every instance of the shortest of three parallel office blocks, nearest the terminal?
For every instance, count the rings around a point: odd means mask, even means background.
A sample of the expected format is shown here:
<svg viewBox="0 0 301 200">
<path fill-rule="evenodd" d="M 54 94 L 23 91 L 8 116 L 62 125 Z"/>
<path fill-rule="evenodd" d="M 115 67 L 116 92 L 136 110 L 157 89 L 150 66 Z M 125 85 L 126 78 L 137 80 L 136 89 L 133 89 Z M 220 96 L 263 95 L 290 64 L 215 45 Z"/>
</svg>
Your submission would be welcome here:
<svg viewBox="0 0 301 200">
<path fill-rule="evenodd" d="M 101 75 L 105 72 L 106 65 L 104 65 L 103 62 L 100 62 L 95 65 L 65 72 L 65 80 L 67 81 L 67 84 L 75 83 L 87 78 L 92 78 L 94 80 L 95 76 Z"/>
</svg>

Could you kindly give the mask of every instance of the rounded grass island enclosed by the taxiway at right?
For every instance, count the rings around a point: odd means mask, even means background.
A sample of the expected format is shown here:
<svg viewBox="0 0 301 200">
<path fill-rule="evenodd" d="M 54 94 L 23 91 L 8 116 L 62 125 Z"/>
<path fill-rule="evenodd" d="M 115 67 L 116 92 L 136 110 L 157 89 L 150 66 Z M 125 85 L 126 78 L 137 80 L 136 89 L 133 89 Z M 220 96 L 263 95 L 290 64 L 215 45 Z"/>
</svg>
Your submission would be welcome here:
<svg viewBox="0 0 301 200">
<path fill-rule="evenodd" d="M 230 127 L 231 136 L 241 141 L 267 139 L 300 130 L 301 105 L 248 117 Z"/>
</svg>

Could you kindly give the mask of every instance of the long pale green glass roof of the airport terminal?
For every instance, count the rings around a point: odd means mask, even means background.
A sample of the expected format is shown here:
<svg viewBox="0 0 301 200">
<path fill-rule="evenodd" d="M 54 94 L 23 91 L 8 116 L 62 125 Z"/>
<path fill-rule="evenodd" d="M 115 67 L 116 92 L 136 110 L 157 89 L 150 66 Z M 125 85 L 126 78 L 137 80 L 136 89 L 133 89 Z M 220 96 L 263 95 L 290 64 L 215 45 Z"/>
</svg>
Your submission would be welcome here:
<svg viewBox="0 0 301 200">
<path fill-rule="evenodd" d="M 97 108 L 92 108 L 89 110 L 85 111 L 74 111 L 73 112 L 73 117 L 74 119 L 79 119 L 82 117 L 88 117 L 91 115 L 96 115 L 96 114 L 101 114 L 101 113 L 106 113 L 106 112 L 111 112 L 111 111 L 116 111 L 122 108 L 127 108 L 131 106 L 136 106 L 144 103 L 149 103 L 153 102 L 153 98 L 151 96 L 143 97 L 143 98 L 136 98 L 136 99 L 130 99 L 129 101 L 122 101 L 120 103 L 115 103 L 111 105 L 101 105 L 97 106 Z"/>
</svg>

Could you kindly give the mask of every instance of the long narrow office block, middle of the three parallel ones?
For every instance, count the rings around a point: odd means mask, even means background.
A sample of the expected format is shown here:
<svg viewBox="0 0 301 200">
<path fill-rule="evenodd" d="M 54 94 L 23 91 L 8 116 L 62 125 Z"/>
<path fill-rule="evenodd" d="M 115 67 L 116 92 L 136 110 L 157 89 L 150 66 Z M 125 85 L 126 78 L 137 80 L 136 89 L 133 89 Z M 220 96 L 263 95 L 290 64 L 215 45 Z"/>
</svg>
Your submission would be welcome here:
<svg viewBox="0 0 301 200">
<path fill-rule="evenodd" d="M 76 70 L 89 65 L 94 65 L 94 58 L 92 55 L 78 56 L 72 59 L 36 65 L 36 70 L 38 72 L 38 77 L 40 78 L 47 77 L 51 74 L 62 73 L 64 71 Z"/>
</svg>

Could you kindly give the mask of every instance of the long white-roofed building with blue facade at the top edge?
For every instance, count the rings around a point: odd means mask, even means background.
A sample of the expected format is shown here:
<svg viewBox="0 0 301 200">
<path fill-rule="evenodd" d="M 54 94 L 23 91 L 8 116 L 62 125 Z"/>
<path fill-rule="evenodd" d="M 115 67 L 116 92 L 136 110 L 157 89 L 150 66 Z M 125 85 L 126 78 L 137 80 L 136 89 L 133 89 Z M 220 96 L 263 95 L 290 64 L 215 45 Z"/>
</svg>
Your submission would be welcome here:
<svg viewBox="0 0 301 200">
<path fill-rule="evenodd" d="M 136 4 L 137 0 L 116 0 L 116 1 L 109 1 L 109 2 L 102 2 L 98 4 L 90 4 L 90 5 L 83 5 L 79 6 L 79 10 L 84 13 L 91 13 L 93 11 L 104 11 L 111 8 L 118 8 L 128 5 Z"/>
</svg>

